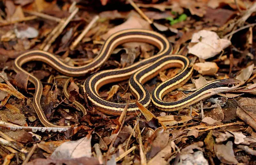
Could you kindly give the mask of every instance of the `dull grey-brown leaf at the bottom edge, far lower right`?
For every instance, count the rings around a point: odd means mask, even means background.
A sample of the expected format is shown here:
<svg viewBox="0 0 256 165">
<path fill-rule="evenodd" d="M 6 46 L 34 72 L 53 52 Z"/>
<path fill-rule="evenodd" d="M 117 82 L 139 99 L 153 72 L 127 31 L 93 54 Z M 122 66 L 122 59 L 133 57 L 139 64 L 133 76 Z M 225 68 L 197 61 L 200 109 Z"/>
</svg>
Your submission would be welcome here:
<svg viewBox="0 0 256 165">
<path fill-rule="evenodd" d="M 233 151 L 233 143 L 232 141 L 228 141 L 226 145 L 224 144 L 215 144 L 214 152 L 218 159 L 222 163 L 226 164 L 237 164 L 238 161 L 235 158 L 235 154 Z"/>
</svg>

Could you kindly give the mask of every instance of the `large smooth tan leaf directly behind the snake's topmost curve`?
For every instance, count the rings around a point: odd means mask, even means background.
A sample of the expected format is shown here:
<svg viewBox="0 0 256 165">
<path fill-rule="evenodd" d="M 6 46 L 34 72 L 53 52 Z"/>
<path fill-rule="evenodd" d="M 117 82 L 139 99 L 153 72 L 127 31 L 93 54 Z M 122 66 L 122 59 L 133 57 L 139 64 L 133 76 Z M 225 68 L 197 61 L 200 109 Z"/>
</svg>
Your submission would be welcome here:
<svg viewBox="0 0 256 165">
<path fill-rule="evenodd" d="M 110 29 L 106 34 L 102 35 L 102 38 L 106 40 L 111 34 L 115 32 L 133 28 L 151 30 L 150 24 L 147 21 L 137 16 L 131 16 L 123 24 L 115 26 L 114 28 Z"/>
</svg>

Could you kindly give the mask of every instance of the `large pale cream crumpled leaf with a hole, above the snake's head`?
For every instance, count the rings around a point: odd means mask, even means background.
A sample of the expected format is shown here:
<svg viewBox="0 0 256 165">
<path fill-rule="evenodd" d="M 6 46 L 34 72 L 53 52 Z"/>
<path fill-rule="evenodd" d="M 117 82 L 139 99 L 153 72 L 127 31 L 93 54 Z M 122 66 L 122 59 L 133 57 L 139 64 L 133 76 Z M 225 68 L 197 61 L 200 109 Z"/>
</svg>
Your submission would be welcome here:
<svg viewBox="0 0 256 165">
<path fill-rule="evenodd" d="M 231 45 L 228 39 L 220 39 L 216 32 L 201 30 L 194 33 L 188 47 L 188 53 L 194 54 L 199 58 L 208 59 L 219 54 L 221 50 Z"/>
</svg>

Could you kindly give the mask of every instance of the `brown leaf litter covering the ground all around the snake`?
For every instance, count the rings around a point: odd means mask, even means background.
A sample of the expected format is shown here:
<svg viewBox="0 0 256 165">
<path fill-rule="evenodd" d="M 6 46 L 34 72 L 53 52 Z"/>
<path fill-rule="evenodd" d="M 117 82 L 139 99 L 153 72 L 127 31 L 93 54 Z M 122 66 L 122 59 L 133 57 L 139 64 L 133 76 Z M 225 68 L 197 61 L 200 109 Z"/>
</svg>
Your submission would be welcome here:
<svg viewBox="0 0 256 165">
<path fill-rule="evenodd" d="M 1 164 L 255 164 L 254 1 L 72 2 L 1 3 Z M 82 35 L 96 15 L 100 18 Z M 46 118 L 71 126 L 68 130 L 43 127 L 33 109 L 35 87 L 27 74 L 13 71 L 13 60 L 41 49 L 67 65 L 82 66 L 100 52 L 111 34 L 132 28 L 161 33 L 175 54 L 191 60 L 192 78 L 167 93 L 164 101 L 179 100 L 216 79 L 236 78 L 240 87 L 180 111 L 163 112 L 138 103 L 128 80 L 106 84 L 99 89 L 103 99 L 135 102 L 140 108 L 136 114 L 119 117 L 90 104 L 83 91 L 89 75 L 73 77 L 66 98 L 63 88 L 68 77 L 43 62 L 31 61 L 23 68 L 43 84 L 41 106 Z M 128 67 L 157 51 L 148 43 L 124 43 L 95 72 Z M 152 92 L 179 73 L 180 68 L 169 68 L 144 86 Z M 85 107 L 85 116 L 74 101 Z"/>
</svg>

